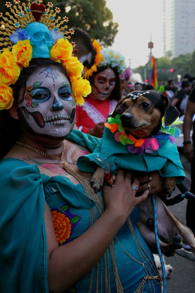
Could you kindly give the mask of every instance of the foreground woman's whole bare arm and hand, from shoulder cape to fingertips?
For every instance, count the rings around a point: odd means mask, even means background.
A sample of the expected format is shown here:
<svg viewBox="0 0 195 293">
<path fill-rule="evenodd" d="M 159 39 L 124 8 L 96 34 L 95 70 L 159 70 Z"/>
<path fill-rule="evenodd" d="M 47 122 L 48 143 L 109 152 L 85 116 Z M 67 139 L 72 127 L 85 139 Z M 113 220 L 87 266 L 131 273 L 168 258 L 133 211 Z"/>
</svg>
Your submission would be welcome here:
<svg viewBox="0 0 195 293">
<path fill-rule="evenodd" d="M 133 185 L 139 185 L 137 178 Z M 65 245 L 58 246 L 51 211 L 45 203 L 49 292 L 64 292 L 87 275 L 101 259 L 132 210 L 148 192 L 135 197 L 131 174 L 118 171 L 114 186 L 104 187 L 105 212 L 87 230 Z M 79 265 L 78 265 L 79 264 Z"/>
</svg>

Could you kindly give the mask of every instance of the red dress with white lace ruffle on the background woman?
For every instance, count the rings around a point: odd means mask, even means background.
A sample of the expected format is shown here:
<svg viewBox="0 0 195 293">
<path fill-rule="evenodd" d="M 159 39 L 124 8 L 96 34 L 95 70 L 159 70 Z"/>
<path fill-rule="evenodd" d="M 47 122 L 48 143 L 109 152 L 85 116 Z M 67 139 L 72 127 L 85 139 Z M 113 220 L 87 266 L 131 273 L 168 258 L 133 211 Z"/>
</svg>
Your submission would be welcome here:
<svg viewBox="0 0 195 293">
<path fill-rule="evenodd" d="M 84 99 L 84 105 L 77 106 L 76 126 L 78 130 L 87 133 L 89 129 L 99 122 L 106 122 L 108 114 L 111 114 L 117 104 L 116 100 L 94 100 L 92 95 Z"/>
</svg>

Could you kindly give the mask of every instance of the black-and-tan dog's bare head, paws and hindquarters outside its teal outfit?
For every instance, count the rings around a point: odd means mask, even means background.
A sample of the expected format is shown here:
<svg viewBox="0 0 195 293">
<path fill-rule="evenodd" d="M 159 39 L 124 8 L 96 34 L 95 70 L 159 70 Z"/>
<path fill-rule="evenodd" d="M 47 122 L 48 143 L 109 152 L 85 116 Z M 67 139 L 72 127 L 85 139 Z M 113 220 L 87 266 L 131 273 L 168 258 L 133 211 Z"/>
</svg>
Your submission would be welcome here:
<svg viewBox="0 0 195 293">
<path fill-rule="evenodd" d="M 173 107 L 166 96 L 155 91 L 134 91 L 118 102 L 112 117 L 120 114 L 122 127 L 126 134 L 132 134 L 135 138 L 147 138 L 156 135 L 161 129 L 162 117 L 165 117 L 165 125 L 171 125 L 179 116 L 179 112 Z M 108 142 L 108 145 L 111 142 Z M 131 154 L 129 154 L 131 156 Z M 158 157 L 157 157 L 158 158 Z M 95 190 L 103 185 L 104 170 L 98 166 L 91 184 Z M 167 192 L 173 191 L 176 185 L 175 177 L 165 178 L 164 187 Z M 175 251 L 195 261 L 195 238 L 189 228 L 176 219 L 168 210 L 160 197 L 156 196 L 158 214 L 158 237 L 162 253 L 166 256 L 174 255 Z M 151 197 L 139 205 L 140 219 L 137 226 L 146 243 L 153 253 L 158 253 L 153 232 L 153 205 Z M 191 246 L 194 253 L 182 248 L 182 238 Z M 182 248 L 182 249 L 181 249 Z"/>
</svg>

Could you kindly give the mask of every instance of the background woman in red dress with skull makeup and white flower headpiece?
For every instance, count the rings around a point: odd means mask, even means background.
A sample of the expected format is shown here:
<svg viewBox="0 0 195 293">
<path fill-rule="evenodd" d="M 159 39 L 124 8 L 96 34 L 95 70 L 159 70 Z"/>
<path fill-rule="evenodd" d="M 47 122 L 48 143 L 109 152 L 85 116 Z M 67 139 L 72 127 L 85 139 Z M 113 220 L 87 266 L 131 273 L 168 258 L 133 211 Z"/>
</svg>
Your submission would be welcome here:
<svg viewBox="0 0 195 293">
<path fill-rule="evenodd" d="M 94 40 L 96 71 L 85 67 L 84 77 L 89 79 L 92 93 L 85 103 L 77 107 L 76 125 L 79 130 L 102 137 L 104 123 L 121 99 L 119 74 L 124 69 L 124 57 L 114 50 L 101 49 Z"/>
</svg>

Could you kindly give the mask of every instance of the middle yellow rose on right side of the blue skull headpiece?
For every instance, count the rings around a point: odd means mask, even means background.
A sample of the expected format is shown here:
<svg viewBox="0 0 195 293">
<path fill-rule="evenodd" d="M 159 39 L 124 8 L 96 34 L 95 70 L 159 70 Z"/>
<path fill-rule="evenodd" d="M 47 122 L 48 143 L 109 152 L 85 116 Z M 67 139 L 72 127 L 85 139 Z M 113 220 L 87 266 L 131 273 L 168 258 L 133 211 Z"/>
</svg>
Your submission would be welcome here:
<svg viewBox="0 0 195 293">
<path fill-rule="evenodd" d="M 82 70 L 84 68 L 83 64 L 77 59 L 77 57 L 68 57 L 61 60 L 61 64 L 66 70 L 68 76 L 81 77 Z"/>
</svg>

